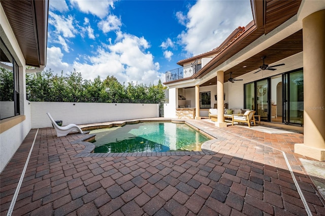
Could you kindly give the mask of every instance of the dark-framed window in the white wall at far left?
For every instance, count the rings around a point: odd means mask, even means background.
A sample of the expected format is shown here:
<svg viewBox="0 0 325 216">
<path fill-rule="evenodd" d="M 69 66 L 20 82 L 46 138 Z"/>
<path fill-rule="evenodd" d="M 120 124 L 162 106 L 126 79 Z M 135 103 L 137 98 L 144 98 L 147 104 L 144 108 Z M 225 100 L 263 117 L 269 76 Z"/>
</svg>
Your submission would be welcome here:
<svg viewBox="0 0 325 216">
<path fill-rule="evenodd" d="M 0 119 L 20 114 L 18 65 L 0 40 Z"/>
</svg>

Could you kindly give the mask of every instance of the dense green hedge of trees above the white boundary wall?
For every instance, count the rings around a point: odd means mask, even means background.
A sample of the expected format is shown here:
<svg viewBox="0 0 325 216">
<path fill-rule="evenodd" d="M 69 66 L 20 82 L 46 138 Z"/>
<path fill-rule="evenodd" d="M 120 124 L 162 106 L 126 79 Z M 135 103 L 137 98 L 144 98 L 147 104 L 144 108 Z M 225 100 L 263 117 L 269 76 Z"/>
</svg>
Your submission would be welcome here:
<svg viewBox="0 0 325 216">
<path fill-rule="evenodd" d="M 100 77 L 84 80 L 76 70 L 63 76 L 53 75 L 46 70 L 37 74 L 26 75 L 26 91 L 32 101 L 62 101 L 62 102 L 116 102 L 130 100 L 150 100 L 162 103 L 165 99 L 166 87 L 159 80 L 157 85 L 143 85 L 118 82 L 114 76 L 107 76 L 102 81 Z"/>
</svg>

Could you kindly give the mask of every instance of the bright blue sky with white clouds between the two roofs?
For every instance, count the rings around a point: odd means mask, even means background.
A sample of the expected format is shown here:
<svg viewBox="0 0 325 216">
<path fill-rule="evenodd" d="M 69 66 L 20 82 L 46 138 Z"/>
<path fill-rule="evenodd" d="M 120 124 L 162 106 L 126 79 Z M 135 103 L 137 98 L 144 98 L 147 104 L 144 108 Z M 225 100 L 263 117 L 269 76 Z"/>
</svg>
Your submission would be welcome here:
<svg viewBox="0 0 325 216">
<path fill-rule="evenodd" d="M 157 84 L 251 20 L 249 0 L 51 0 L 45 69 Z"/>
</svg>

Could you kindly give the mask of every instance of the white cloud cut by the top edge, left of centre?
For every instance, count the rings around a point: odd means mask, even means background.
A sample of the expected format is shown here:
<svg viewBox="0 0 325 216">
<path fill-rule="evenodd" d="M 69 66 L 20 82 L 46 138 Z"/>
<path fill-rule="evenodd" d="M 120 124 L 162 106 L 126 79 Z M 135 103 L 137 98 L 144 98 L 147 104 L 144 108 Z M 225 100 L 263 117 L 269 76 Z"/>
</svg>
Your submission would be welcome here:
<svg viewBox="0 0 325 216">
<path fill-rule="evenodd" d="M 77 6 L 80 11 L 86 14 L 93 14 L 99 18 L 104 18 L 110 12 L 109 8 L 114 8 L 115 0 L 71 0 L 72 4 Z"/>
</svg>

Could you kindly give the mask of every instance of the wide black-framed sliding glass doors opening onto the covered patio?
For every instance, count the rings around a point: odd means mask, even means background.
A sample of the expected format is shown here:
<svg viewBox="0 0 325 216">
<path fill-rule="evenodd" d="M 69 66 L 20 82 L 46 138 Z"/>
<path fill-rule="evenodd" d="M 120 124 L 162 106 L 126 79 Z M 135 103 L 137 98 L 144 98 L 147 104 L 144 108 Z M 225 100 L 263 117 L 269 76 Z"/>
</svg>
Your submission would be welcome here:
<svg viewBox="0 0 325 216">
<path fill-rule="evenodd" d="M 245 109 L 255 110 L 261 121 L 304 124 L 303 70 L 244 85 Z"/>
</svg>

